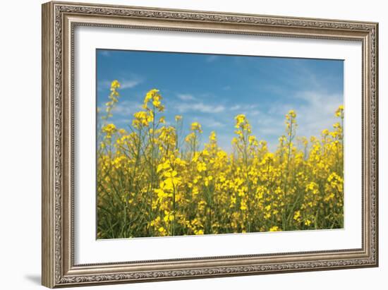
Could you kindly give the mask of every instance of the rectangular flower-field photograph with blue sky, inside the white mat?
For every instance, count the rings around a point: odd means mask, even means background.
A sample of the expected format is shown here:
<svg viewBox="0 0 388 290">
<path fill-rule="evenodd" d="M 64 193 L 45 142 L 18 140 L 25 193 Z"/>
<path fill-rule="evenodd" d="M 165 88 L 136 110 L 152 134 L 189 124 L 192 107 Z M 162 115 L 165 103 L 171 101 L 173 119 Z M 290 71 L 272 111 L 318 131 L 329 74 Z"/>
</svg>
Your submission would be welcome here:
<svg viewBox="0 0 388 290">
<path fill-rule="evenodd" d="M 344 227 L 342 61 L 97 50 L 97 238 Z"/>
</svg>

